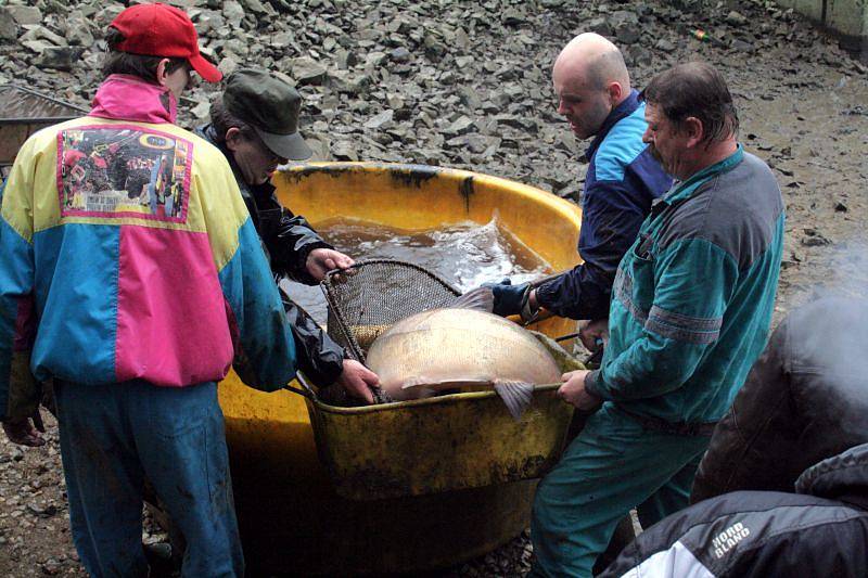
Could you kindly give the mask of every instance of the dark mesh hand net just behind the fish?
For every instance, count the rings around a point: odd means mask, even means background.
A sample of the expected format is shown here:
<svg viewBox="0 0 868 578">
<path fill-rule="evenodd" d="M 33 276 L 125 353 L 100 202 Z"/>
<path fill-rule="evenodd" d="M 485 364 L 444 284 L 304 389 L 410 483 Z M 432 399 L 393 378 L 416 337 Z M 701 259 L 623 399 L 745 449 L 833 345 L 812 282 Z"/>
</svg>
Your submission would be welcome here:
<svg viewBox="0 0 868 578">
<path fill-rule="evenodd" d="M 431 271 L 393 259 L 330 271 L 320 286 L 329 304 L 329 336 L 362 363 L 371 343 L 394 323 L 446 307 L 461 294 Z"/>
</svg>

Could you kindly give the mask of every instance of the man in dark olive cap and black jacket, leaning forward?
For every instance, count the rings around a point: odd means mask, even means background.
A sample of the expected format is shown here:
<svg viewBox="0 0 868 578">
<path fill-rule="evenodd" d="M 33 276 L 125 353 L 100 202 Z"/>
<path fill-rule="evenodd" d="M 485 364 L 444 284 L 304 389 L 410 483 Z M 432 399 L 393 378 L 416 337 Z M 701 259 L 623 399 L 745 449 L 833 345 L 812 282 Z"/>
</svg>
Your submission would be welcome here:
<svg viewBox="0 0 868 578">
<path fill-rule="evenodd" d="M 266 70 L 241 68 L 210 108 L 210 124 L 196 131 L 229 160 L 256 231 L 263 240 L 276 280 L 289 278 L 312 285 L 329 270 L 346 268 L 353 259 L 334 251 L 304 217 L 278 201 L 271 174 L 278 165 L 310 157 L 298 132 L 302 99 L 289 84 Z M 356 360 L 283 293 L 297 351 L 298 369 L 320 387 L 339 383 L 350 396 L 373 402 L 375 373 Z"/>
</svg>

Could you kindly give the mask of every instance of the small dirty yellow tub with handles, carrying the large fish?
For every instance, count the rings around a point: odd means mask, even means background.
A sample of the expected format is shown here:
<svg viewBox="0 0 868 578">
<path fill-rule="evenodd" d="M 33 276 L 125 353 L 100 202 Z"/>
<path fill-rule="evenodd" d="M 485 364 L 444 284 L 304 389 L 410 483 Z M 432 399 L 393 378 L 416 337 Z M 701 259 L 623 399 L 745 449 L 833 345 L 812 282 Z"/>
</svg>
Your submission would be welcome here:
<svg viewBox="0 0 868 578">
<path fill-rule="evenodd" d="M 560 351 L 562 372 L 584 369 Z M 557 388 L 537 387 L 520 421 L 494 391 L 361 408 L 337 408 L 311 396 L 307 407 L 335 491 L 378 500 L 540 477 L 558 461 L 573 415 Z"/>
</svg>

